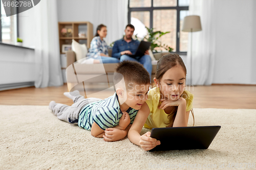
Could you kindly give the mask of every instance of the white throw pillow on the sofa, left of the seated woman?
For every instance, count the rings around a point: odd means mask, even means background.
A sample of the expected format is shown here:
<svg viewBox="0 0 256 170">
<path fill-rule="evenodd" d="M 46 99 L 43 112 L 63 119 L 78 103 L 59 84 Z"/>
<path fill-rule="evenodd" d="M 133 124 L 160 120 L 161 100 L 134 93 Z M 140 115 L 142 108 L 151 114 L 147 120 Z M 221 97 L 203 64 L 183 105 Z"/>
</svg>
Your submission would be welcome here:
<svg viewBox="0 0 256 170">
<path fill-rule="evenodd" d="M 79 44 L 73 39 L 71 47 L 76 54 L 76 61 L 79 63 L 82 62 L 81 59 L 85 58 L 88 53 L 86 44 Z"/>
</svg>

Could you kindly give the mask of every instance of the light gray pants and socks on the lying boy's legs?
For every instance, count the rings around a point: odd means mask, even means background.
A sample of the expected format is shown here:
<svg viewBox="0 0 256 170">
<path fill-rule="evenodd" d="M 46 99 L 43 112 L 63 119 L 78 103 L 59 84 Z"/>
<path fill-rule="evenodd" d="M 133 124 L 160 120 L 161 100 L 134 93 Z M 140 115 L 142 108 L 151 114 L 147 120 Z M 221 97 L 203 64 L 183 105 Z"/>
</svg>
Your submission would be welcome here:
<svg viewBox="0 0 256 170">
<path fill-rule="evenodd" d="M 97 101 L 102 101 L 102 100 L 98 98 L 85 99 L 82 95 L 78 95 L 74 98 L 73 100 L 74 104 L 71 106 L 55 103 L 54 101 L 51 101 L 49 104 L 49 109 L 52 110 L 52 112 L 54 113 L 55 116 L 58 117 L 58 119 L 68 123 L 77 124 L 80 110 L 84 106 Z"/>
</svg>

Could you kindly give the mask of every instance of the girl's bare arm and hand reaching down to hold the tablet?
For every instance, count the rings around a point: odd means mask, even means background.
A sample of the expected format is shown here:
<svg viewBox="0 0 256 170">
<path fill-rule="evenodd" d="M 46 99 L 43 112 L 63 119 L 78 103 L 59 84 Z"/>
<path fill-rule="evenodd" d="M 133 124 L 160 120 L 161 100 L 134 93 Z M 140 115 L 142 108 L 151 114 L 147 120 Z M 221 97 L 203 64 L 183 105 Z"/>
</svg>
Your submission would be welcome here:
<svg viewBox="0 0 256 170">
<path fill-rule="evenodd" d="M 151 150 L 155 148 L 160 141 L 150 137 L 150 132 L 145 133 L 144 135 L 140 136 L 140 132 L 146 122 L 147 116 L 150 114 L 150 108 L 148 108 L 147 104 L 144 103 L 141 106 L 141 109 L 138 111 L 133 125 L 128 132 L 128 138 L 134 144 L 141 146 L 141 148 L 145 151 Z"/>
</svg>

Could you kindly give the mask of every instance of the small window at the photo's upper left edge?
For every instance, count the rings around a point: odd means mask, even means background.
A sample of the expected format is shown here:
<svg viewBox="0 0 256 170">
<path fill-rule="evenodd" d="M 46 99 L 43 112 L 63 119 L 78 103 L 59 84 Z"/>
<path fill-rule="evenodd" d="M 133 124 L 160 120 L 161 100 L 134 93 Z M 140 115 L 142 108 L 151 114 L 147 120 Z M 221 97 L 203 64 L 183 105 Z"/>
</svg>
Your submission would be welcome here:
<svg viewBox="0 0 256 170">
<path fill-rule="evenodd" d="M 17 41 L 17 17 L 18 14 L 6 16 L 6 11 L 1 1 L 0 8 L 0 41 L 3 43 L 16 44 Z"/>
</svg>

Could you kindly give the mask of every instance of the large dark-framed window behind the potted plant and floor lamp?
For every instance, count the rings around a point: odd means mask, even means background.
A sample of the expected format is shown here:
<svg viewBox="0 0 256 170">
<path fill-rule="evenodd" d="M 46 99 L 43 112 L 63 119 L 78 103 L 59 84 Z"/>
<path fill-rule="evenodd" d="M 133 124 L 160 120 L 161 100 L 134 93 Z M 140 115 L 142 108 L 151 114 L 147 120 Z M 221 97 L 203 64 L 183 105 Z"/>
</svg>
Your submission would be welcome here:
<svg viewBox="0 0 256 170">
<path fill-rule="evenodd" d="M 130 0 L 128 22 L 138 24 L 140 29 L 134 32 L 137 36 L 146 34 L 141 26 L 170 32 L 158 40 L 162 45 L 174 48 L 174 52 L 186 55 L 188 33 L 181 29 L 184 17 L 188 15 L 188 5 L 189 0 Z"/>
</svg>

